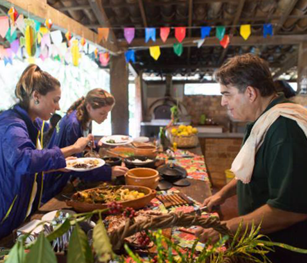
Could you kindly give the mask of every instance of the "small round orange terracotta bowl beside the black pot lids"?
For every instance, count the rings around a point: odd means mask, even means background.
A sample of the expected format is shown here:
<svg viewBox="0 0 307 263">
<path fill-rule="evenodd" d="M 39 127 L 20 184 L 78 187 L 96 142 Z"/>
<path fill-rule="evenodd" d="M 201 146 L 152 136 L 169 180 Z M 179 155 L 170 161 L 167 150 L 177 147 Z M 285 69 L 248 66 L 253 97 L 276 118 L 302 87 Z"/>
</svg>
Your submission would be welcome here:
<svg viewBox="0 0 307 263">
<path fill-rule="evenodd" d="M 151 168 L 134 168 L 125 174 L 126 185 L 145 186 L 156 189 L 159 184 L 159 172 Z"/>
</svg>

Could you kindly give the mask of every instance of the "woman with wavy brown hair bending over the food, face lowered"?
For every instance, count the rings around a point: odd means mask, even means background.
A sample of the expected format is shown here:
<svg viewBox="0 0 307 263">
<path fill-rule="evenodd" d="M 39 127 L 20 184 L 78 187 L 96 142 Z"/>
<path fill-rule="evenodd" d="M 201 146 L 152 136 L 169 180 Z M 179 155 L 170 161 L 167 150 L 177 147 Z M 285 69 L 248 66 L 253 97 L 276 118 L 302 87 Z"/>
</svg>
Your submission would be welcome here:
<svg viewBox="0 0 307 263">
<path fill-rule="evenodd" d="M 74 143 L 78 138 L 86 136 L 91 132 L 92 120 L 101 124 L 115 104 L 112 94 L 103 89 L 94 89 L 85 97 L 78 99 L 68 109 L 67 114 L 57 124 L 55 132 L 50 139 L 48 147 L 54 145 L 65 147 Z M 81 157 L 82 155 L 76 155 Z M 48 184 L 42 196 L 42 201 L 47 202 L 58 194 L 69 180 L 69 175 L 80 177 L 86 181 L 110 181 L 112 177 L 122 176 L 127 172 L 126 167 L 106 165 L 88 172 L 71 172 L 48 174 L 44 182 Z"/>
</svg>

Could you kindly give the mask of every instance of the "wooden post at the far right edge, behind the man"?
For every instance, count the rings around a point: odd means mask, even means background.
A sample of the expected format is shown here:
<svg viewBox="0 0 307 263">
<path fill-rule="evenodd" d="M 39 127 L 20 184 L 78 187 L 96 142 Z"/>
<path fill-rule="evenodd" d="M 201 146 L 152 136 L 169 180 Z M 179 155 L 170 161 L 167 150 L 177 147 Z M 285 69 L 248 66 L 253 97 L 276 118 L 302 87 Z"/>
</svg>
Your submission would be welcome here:
<svg viewBox="0 0 307 263">
<path fill-rule="evenodd" d="M 300 43 L 297 65 L 297 92 L 307 94 L 307 41 Z"/>
</svg>

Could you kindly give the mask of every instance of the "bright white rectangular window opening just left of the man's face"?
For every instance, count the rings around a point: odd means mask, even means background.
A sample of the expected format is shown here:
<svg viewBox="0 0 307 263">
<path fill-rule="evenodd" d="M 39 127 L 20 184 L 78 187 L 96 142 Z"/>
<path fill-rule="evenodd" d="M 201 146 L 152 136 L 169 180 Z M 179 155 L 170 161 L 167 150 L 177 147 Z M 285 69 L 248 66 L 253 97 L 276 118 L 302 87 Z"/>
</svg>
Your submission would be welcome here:
<svg viewBox="0 0 307 263">
<path fill-rule="evenodd" d="M 218 83 L 186 83 L 184 95 L 221 95 Z"/>
</svg>

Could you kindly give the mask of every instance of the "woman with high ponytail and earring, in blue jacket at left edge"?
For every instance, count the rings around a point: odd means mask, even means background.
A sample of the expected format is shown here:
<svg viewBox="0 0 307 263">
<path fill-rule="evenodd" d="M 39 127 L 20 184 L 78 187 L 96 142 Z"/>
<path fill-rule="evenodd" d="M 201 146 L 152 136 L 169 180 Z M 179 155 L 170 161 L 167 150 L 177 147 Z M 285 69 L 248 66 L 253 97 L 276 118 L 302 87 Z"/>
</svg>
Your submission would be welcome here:
<svg viewBox="0 0 307 263">
<path fill-rule="evenodd" d="M 65 157 L 82 152 L 93 136 L 71 146 L 42 149 L 41 120 L 60 109 L 60 83 L 29 65 L 16 85 L 19 103 L 0 115 L 0 238 L 10 234 L 40 204 L 43 172 L 66 166 Z"/>
</svg>

